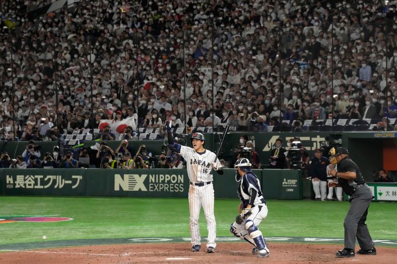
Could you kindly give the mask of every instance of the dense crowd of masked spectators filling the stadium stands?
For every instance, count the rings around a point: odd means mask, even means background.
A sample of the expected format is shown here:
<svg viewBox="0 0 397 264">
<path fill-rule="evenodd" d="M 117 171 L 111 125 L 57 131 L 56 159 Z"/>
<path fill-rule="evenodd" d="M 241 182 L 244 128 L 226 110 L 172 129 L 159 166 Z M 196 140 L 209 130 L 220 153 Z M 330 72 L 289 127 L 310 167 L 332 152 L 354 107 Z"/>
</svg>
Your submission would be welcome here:
<svg viewBox="0 0 397 264">
<path fill-rule="evenodd" d="M 397 117 L 396 6 L 309 2 L 79 1 L 32 18 L 43 1 L 2 1 L 1 138 L 128 117 L 135 131 Z"/>
</svg>

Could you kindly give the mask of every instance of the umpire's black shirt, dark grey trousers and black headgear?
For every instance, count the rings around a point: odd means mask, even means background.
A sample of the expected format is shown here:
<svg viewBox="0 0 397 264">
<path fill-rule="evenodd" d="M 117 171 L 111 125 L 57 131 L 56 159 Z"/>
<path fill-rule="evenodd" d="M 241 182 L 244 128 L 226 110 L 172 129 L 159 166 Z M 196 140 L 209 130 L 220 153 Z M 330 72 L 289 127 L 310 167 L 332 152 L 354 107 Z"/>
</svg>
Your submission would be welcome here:
<svg viewBox="0 0 397 264">
<path fill-rule="evenodd" d="M 347 149 L 343 147 L 336 148 L 336 152 L 336 155 L 349 154 Z M 365 220 L 368 207 L 373 199 L 372 192 L 370 187 L 366 185 L 357 164 L 349 156 L 342 158 L 337 163 L 337 173 L 344 172 L 354 172 L 356 174 L 354 180 L 338 178 L 338 183 L 342 186 L 344 192 L 350 196 L 350 208 L 344 222 L 345 249 L 350 249 L 354 252 L 357 238 L 360 248 L 364 251 L 369 251 L 374 249 L 374 242 L 370 232 L 368 232 Z"/>
</svg>

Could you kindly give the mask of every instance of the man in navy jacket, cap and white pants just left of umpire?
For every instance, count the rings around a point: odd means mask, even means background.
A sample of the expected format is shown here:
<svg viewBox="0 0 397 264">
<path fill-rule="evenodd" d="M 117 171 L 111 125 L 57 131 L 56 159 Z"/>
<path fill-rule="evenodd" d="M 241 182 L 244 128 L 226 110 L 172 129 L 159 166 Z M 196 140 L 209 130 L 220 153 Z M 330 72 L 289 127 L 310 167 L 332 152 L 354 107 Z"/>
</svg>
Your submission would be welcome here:
<svg viewBox="0 0 397 264">
<path fill-rule="evenodd" d="M 309 161 L 309 173 L 316 194 L 316 201 L 325 201 L 325 197 L 327 197 L 328 164 L 328 159 L 323 157 L 323 151 L 319 148 L 315 149 L 315 156 Z"/>
</svg>

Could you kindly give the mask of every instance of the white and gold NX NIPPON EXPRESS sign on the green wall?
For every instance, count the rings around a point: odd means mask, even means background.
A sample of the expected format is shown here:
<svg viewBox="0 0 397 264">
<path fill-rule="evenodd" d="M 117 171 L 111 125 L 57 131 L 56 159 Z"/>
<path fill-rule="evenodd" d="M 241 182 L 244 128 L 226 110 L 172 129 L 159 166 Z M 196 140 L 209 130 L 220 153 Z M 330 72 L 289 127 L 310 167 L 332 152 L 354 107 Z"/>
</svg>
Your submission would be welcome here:
<svg viewBox="0 0 397 264">
<path fill-rule="evenodd" d="M 183 192 L 182 174 L 115 174 L 115 191 Z"/>
</svg>

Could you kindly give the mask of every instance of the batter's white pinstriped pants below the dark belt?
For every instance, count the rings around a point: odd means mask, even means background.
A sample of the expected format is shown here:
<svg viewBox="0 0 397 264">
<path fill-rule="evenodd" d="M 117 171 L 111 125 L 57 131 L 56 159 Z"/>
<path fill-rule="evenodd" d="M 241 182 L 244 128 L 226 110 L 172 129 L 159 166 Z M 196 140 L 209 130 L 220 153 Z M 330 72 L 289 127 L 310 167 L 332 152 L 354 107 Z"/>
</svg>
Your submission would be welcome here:
<svg viewBox="0 0 397 264">
<path fill-rule="evenodd" d="M 190 211 L 190 236 L 192 245 L 201 245 L 200 226 L 198 226 L 198 217 L 200 217 L 201 207 L 204 209 L 204 215 L 207 219 L 208 229 L 208 247 L 216 247 L 216 221 L 214 215 L 214 187 L 211 184 L 204 186 L 189 185 L 189 211 Z"/>
</svg>

